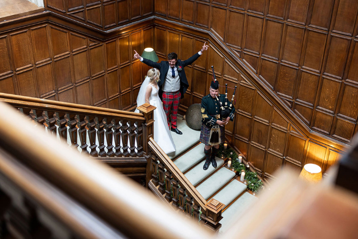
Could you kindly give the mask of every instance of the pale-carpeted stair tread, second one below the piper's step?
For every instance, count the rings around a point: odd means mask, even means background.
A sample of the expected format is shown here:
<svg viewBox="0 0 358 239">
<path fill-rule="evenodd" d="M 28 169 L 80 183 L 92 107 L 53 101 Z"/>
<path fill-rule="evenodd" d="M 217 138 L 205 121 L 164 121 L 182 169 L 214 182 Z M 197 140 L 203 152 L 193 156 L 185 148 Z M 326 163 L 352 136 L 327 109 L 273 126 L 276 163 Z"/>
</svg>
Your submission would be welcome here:
<svg viewBox="0 0 358 239">
<path fill-rule="evenodd" d="M 221 189 L 220 192 L 214 195 L 213 198 L 227 206 L 234 201 L 238 195 L 246 190 L 246 188 L 247 186 L 245 184 L 233 180 L 225 188 Z"/>
</svg>

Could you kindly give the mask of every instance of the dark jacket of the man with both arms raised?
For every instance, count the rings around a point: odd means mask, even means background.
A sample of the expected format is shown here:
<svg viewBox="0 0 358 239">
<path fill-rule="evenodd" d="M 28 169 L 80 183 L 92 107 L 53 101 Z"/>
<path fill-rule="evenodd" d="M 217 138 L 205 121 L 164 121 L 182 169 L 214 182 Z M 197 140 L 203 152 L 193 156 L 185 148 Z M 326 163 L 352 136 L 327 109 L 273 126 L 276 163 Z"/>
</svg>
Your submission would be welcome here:
<svg viewBox="0 0 358 239">
<path fill-rule="evenodd" d="M 176 61 L 176 68 L 178 70 L 178 75 L 180 78 L 180 93 L 182 94 L 182 99 L 184 98 L 184 93 L 188 90 L 189 87 L 189 83 L 187 80 L 187 76 L 185 75 L 185 71 L 184 68 L 186 66 L 188 66 L 189 64 L 192 64 L 197 58 L 199 58 L 199 54 L 196 53 L 195 55 L 193 55 L 192 57 L 190 57 L 187 60 L 180 60 L 178 59 Z M 159 86 L 159 97 L 162 99 L 162 95 L 163 95 L 163 91 L 162 91 L 162 86 L 163 83 L 165 82 L 165 79 L 167 78 L 167 73 L 169 70 L 169 62 L 166 60 L 161 61 L 160 63 L 148 60 L 143 58 L 143 63 L 147 64 L 149 67 L 154 67 L 156 69 L 159 69 L 161 75 L 159 77 L 160 81 L 158 82 L 158 86 Z M 179 67 L 182 67 L 182 70 L 179 71 Z"/>
</svg>

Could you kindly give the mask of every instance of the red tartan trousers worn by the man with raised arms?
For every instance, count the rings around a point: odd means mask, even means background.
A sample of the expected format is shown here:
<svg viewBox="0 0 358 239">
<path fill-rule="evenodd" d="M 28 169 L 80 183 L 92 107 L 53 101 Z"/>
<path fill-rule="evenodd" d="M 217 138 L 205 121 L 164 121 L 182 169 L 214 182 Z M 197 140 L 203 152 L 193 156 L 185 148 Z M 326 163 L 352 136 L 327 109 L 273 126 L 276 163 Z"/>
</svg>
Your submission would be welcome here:
<svg viewBox="0 0 358 239">
<path fill-rule="evenodd" d="M 181 96 L 182 94 L 180 93 L 180 91 L 163 92 L 163 108 L 165 114 L 167 115 L 167 122 L 169 127 L 169 114 L 171 110 L 171 127 L 176 128 L 176 117 L 178 115 L 178 107 L 180 105 Z"/>
</svg>

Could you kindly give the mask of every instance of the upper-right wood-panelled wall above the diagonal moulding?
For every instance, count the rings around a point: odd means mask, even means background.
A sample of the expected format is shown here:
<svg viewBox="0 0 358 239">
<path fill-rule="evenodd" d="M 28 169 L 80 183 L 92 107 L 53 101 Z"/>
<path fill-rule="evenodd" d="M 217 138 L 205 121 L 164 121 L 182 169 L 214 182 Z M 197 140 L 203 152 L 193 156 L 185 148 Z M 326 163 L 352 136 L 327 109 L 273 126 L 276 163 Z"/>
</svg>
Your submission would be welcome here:
<svg viewBox="0 0 358 239">
<path fill-rule="evenodd" d="M 358 118 L 355 0 L 155 0 L 211 31 L 306 125 L 350 143 Z"/>
</svg>

